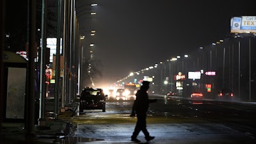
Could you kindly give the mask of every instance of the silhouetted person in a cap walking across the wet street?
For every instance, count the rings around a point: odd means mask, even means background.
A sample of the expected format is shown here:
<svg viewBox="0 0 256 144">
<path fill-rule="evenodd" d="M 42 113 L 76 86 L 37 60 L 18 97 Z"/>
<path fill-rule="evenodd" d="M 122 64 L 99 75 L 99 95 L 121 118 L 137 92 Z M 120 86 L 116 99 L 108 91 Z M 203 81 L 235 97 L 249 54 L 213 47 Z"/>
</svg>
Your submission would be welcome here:
<svg viewBox="0 0 256 144">
<path fill-rule="evenodd" d="M 155 137 L 150 136 L 149 132 L 147 131 L 147 111 L 149 103 L 157 102 L 157 99 L 148 99 L 147 90 L 149 88 L 149 81 L 143 81 L 140 90 L 136 93 L 136 100 L 134 100 L 134 104 L 132 106 L 131 116 L 137 116 L 136 126 L 134 128 L 134 132 L 132 132 L 131 141 L 140 142 L 137 139 L 138 134 L 140 131 L 143 132 L 145 135 L 145 139 L 147 141 L 153 140 Z"/>
</svg>

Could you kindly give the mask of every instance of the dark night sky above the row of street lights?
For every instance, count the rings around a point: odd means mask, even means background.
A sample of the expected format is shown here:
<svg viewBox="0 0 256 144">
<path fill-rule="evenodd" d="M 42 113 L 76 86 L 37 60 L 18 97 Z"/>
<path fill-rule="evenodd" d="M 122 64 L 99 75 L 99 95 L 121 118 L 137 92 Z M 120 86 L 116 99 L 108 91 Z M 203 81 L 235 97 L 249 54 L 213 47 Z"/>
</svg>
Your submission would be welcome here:
<svg viewBox="0 0 256 144">
<path fill-rule="evenodd" d="M 80 1 L 81 3 L 81 1 Z M 104 79 L 120 79 L 177 55 L 188 54 L 230 32 L 230 18 L 256 15 L 255 1 L 97 1 L 95 56 Z M 92 26 L 89 26 L 92 24 Z M 117 77 L 117 78 L 116 78 Z"/>
</svg>

